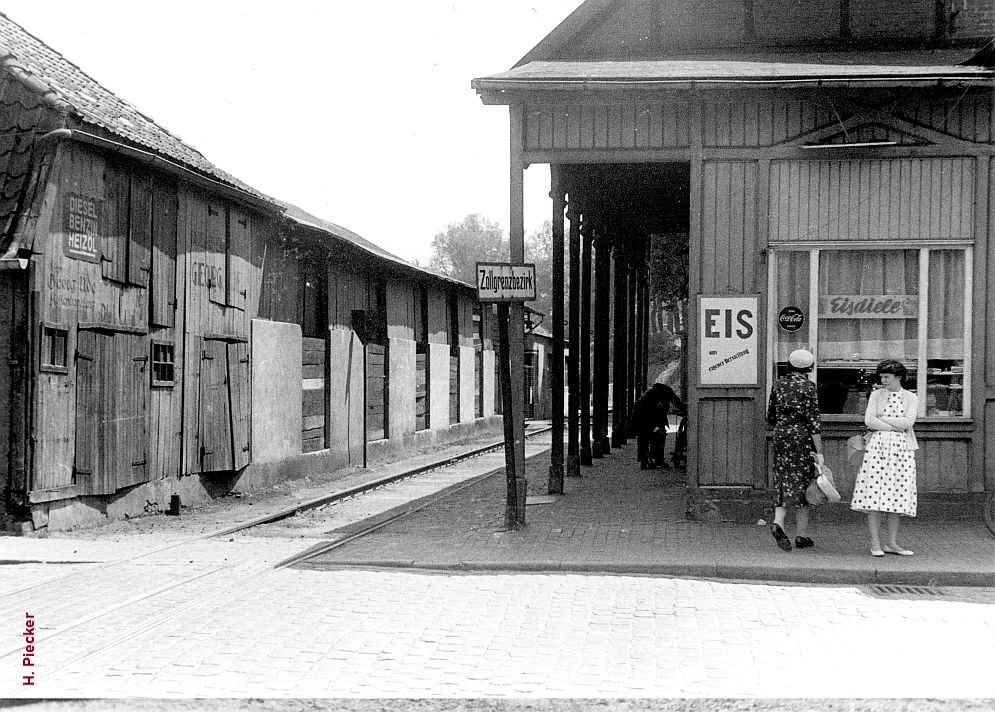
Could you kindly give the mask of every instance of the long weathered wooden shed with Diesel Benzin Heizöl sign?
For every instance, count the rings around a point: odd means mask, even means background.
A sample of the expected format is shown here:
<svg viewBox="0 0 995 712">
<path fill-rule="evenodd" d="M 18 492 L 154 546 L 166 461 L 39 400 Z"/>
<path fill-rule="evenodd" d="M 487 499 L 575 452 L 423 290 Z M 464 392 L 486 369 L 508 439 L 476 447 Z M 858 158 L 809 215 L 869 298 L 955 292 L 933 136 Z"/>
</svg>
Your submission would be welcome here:
<svg viewBox="0 0 995 712">
<path fill-rule="evenodd" d="M 470 285 L 221 171 L 3 15 L 0 70 L 4 525 L 500 424 Z"/>
</svg>

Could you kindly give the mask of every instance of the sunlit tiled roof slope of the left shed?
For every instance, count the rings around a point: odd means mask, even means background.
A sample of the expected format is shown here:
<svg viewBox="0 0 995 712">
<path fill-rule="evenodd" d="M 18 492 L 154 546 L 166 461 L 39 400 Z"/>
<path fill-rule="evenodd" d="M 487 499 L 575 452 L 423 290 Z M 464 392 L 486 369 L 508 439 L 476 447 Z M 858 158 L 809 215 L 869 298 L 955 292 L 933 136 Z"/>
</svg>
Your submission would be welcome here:
<svg viewBox="0 0 995 712">
<path fill-rule="evenodd" d="M 144 147 L 257 198 L 269 198 L 221 170 L 192 146 L 134 106 L 104 88 L 82 69 L 0 13 L 0 61 L 9 73 L 45 95 L 53 105 L 68 105 L 71 114 L 127 142 Z M 53 101 L 54 100 L 54 101 Z"/>
</svg>

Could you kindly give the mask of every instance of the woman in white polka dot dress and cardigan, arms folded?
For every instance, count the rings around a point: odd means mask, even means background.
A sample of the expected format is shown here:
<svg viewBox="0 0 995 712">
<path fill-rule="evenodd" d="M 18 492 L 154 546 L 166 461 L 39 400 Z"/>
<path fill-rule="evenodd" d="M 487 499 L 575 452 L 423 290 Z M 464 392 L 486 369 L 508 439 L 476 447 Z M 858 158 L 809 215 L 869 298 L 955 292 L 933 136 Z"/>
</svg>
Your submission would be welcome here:
<svg viewBox="0 0 995 712">
<path fill-rule="evenodd" d="M 915 451 L 919 445 L 912 426 L 919 399 L 902 388 L 906 371 L 900 361 L 882 361 L 877 373 L 883 388 L 867 401 L 864 423 L 874 432 L 857 473 L 850 508 L 867 512 L 871 556 L 912 556 L 898 543 L 898 522 L 902 515 L 916 515 Z M 882 512 L 888 519 L 888 543 L 883 547 L 879 534 Z"/>
</svg>

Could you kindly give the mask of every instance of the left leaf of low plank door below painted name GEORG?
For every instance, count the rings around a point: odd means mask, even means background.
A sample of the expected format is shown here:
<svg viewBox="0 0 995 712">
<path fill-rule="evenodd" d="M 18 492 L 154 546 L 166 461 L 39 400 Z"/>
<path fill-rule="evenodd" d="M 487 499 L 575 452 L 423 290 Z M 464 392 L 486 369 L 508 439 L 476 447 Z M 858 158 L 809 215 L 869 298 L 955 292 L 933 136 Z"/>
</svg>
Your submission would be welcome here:
<svg viewBox="0 0 995 712">
<path fill-rule="evenodd" d="M 204 339 L 200 359 L 200 471 L 232 469 L 231 413 L 226 344 Z"/>
</svg>

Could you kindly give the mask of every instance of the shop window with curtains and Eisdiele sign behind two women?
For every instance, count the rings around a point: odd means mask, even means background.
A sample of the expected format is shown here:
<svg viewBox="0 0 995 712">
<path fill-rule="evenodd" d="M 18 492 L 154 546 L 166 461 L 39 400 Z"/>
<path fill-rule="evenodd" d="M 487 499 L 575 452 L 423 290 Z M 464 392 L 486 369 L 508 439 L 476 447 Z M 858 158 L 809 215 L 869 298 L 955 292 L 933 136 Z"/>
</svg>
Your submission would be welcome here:
<svg viewBox="0 0 995 712">
<path fill-rule="evenodd" d="M 886 358 L 908 369 L 920 416 L 970 414 L 970 247 L 771 255 L 775 373 L 794 349 L 813 350 L 823 414 L 861 418 Z"/>
</svg>

